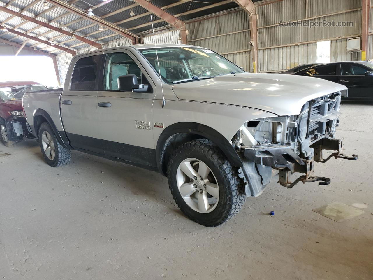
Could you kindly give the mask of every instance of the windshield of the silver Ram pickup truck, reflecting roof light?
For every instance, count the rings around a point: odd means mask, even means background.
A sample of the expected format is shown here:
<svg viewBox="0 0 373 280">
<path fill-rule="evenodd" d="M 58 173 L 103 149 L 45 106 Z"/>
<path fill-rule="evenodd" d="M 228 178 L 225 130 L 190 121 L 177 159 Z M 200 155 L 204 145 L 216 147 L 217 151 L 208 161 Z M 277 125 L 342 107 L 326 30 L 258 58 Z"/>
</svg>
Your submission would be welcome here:
<svg viewBox="0 0 373 280">
<path fill-rule="evenodd" d="M 198 47 L 158 47 L 159 69 L 155 48 L 140 49 L 140 52 L 168 83 L 245 72 L 212 50 Z"/>
</svg>

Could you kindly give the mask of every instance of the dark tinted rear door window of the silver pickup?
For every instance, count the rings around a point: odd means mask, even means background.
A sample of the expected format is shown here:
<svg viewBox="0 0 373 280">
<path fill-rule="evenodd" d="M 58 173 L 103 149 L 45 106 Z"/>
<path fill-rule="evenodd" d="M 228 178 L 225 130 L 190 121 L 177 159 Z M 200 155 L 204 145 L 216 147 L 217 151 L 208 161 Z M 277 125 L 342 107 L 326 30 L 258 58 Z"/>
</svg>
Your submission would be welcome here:
<svg viewBox="0 0 373 280">
<path fill-rule="evenodd" d="M 70 90 L 95 90 L 98 63 L 101 55 L 84 57 L 75 64 Z"/>
</svg>

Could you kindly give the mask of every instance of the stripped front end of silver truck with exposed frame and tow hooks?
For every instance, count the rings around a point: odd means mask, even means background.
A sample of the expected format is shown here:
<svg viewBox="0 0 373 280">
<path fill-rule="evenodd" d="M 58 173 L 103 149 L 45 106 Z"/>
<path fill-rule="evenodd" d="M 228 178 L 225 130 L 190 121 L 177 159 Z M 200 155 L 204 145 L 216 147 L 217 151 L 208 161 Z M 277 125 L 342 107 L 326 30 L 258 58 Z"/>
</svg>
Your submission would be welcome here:
<svg viewBox="0 0 373 280">
<path fill-rule="evenodd" d="M 232 144 L 244 165 L 239 175 L 246 183 L 247 196 L 260 195 L 277 171 L 278 183 L 284 187 L 300 181 L 327 185 L 329 178 L 314 175 L 315 162 L 325 163 L 332 157 L 357 159 L 357 155 L 344 155 L 343 140 L 335 139 L 342 94 L 310 100 L 299 115 L 254 119 L 240 128 Z M 324 150 L 335 152 L 324 159 Z M 292 173 L 304 175 L 291 181 Z"/>
</svg>

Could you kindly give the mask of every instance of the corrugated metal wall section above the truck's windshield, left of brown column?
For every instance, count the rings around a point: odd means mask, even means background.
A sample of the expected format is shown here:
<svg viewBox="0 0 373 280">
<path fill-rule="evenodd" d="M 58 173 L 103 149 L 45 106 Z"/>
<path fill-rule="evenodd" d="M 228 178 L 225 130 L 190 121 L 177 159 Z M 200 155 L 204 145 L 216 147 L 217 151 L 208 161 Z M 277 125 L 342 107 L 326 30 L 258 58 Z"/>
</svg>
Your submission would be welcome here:
<svg viewBox="0 0 373 280">
<path fill-rule="evenodd" d="M 186 25 L 188 44 L 206 47 L 252 71 L 248 14 L 239 10 Z"/>
</svg>

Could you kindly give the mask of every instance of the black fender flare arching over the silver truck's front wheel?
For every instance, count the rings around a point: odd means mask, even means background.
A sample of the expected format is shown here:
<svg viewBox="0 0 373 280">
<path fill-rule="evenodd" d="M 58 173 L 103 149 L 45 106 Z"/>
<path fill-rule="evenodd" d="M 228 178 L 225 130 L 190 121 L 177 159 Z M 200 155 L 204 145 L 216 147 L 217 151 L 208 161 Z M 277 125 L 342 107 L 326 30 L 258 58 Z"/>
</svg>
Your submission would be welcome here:
<svg viewBox="0 0 373 280">
<path fill-rule="evenodd" d="M 229 143 L 229 141 L 218 131 L 207 125 L 196 122 L 178 122 L 166 127 L 162 131 L 157 141 L 156 159 L 157 167 L 161 174 L 166 176 L 167 173 L 167 167 L 163 166 L 168 147 L 167 141 L 170 141 L 171 137 L 180 133 L 195 134 L 211 140 L 223 151 L 232 165 L 236 167 L 243 166 L 241 158 L 237 154 L 236 150 L 232 147 L 231 143 Z"/>
</svg>

